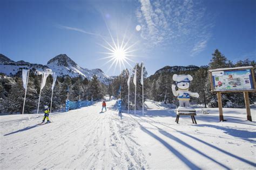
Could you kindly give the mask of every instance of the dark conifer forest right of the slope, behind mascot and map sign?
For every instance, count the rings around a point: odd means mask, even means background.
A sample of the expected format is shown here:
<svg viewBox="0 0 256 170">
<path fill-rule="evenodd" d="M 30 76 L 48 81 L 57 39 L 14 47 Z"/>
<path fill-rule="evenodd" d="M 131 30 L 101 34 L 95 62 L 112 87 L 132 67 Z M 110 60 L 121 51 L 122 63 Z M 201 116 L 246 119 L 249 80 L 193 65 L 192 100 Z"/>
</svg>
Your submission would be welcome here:
<svg viewBox="0 0 256 170">
<path fill-rule="evenodd" d="M 165 103 L 174 103 L 178 105 L 177 97 L 172 94 L 172 84 L 175 82 L 172 80 L 173 74 L 190 74 L 193 77 L 191 81 L 190 90 L 199 93 L 199 98 L 191 98 L 191 103 L 203 104 L 204 107 L 218 107 L 217 96 L 211 93 L 210 79 L 208 70 L 216 68 L 231 68 L 253 66 L 255 67 L 255 61 L 248 59 L 239 60 L 236 63 L 228 60 L 225 55 L 216 49 L 212 54 L 212 59 L 208 66 L 166 66 L 158 70 L 154 75 L 144 79 L 144 99 L 148 98 L 154 101 L 161 101 Z M 135 69 L 135 67 L 133 68 Z M 136 107 L 142 107 L 142 85 L 140 82 L 140 74 L 142 65 L 137 63 L 137 102 Z M 147 72 L 144 68 L 144 77 Z M 255 74 L 256 75 L 256 74 Z M 134 84 L 133 84 L 134 71 L 132 72 L 130 82 L 130 108 L 134 108 Z M 108 87 L 108 94 L 118 97 L 117 91 L 119 85 L 122 84 L 122 100 L 127 108 L 128 98 L 128 70 L 123 70 L 122 74 L 116 77 Z M 244 95 L 243 93 L 224 93 L 222 95 L 223 107 L 226 108 L 244 108 Z M 256 100 L 255 94 L 250 93 L 250 102 L 253 103 Z"/>
</svg>

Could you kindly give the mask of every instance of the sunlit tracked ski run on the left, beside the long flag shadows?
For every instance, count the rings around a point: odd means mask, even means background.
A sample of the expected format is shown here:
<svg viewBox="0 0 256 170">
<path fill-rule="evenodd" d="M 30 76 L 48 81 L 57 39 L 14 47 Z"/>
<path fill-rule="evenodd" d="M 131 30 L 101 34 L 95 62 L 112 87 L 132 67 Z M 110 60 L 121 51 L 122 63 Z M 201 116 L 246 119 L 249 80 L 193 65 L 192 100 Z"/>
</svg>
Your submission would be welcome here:
<svg viewBox="0 0 256 170">
<path fill-rule="evenodd" d="M 50 115 L 52 123 L 37 126 L 41 114 L 22 121 L 1 118 L 2 128 L 11 125 L 1 130 L 1 169 L 149 168 L 140 146 L 129 137 L 132 126 L 120 127 L 123 121 L 111 108 L 115 102 L 108 102 L 102 114 L 97 112 L 101 109 L 97 103 Z M 29 125 L 31 129 L 17 132 Z"/>
</svg>

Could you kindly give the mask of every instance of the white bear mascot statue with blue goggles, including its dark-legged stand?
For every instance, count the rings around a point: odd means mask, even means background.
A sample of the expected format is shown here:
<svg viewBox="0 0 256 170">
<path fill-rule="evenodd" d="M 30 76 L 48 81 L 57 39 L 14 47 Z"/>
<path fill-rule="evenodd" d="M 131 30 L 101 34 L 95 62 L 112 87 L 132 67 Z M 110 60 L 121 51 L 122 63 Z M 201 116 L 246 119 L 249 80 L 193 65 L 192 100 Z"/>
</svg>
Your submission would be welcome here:
<svg viewBox="0 0 256 170">
<path fill-rule="evenodd" d="M 179 122 L 180 115 L 190 115 L 193 123 L 195 122 L 197 124 L 196 118 L 194 118 L 194 116 L 197 115 L 196 110 L 189 107 L 190 97 L 199 97 L 198 93 L 188 91 L 188 88 L 190 87 L 190 81 L 193 80 L 193 77 L 189 74 L 174 74 L 172 79 L 176 82 L 176 85 L 172 85 L 172 93 L 174 96 L 178 96 L 179 100 L 176 122 Z M 178 87 L 178 90 L 176 90 L 176 87 Z"/>
</svg>

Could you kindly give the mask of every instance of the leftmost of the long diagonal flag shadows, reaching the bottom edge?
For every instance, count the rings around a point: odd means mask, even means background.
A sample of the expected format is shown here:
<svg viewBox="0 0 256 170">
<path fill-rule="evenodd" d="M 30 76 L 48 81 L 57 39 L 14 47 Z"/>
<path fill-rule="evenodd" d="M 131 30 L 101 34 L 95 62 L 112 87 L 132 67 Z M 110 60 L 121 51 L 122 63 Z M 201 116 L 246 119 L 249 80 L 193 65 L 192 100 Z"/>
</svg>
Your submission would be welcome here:
<svg viewBox="0 0 256 170">
<path fill-rule="evenodd" d="M 140 125 L 140 128 L 145 133 L 149 134 L 153 138 L 155 138 L 158 141 L 160 141 L 161 144 L 163 144 L 168 150 L 170 150 L 174 155 L 176 155 L 176 157 L 178 157 L 181 161 L 183 161 L 188 167 L 190 167 L 191 169 L 200 169 L 197 165 L 193 164 L 193 162 L 188 160 L 183 154 L 181 154 L 179 151 L 177 151 L 174 147 L 169 145 L 165 140 L 159 138 L 158 136 L 156 136 L 156 134 L 154 134 L 151 131 L 147 130 L 142 125 Z"/>
</svg>

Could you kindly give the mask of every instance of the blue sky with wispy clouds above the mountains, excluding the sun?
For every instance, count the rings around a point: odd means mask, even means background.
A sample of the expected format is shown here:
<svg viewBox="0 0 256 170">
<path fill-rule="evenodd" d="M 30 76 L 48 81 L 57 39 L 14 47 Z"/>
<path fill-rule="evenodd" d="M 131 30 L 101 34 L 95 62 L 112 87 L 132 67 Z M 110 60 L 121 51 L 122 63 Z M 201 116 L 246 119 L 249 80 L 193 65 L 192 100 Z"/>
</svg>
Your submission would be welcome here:
<svg viewBox="0 0 256 170">
<path fill-rule="evenodd" d="M 216 48 L 234 62 L 253 60 L 255 11 L 250 0 L 1 0 L 0 53 L 43 65 L 65 53 L 79 66 L 117 75 L 102 59 L 112 36 L 131 46 L 127 57 L 143 61 L 149 75 L 166 65 L 207 65 Z"/>
</svg>

